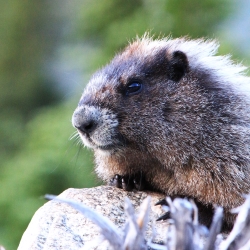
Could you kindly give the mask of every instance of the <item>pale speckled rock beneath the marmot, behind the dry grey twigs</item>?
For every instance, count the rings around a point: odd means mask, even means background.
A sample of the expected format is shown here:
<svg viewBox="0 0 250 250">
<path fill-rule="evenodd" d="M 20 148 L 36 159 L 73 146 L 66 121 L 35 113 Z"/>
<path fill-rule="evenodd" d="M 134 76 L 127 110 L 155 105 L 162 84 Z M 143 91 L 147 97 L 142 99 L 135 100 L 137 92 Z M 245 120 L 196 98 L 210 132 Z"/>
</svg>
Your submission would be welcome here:
<svg viewBox="0 0 250 250">
<path fill-rule="evenodd" d="M 146 239 L 152 237 L 155 228 L 157 241 L 166 239 L 167 223 L 156 222 L 163 213 L 160 206 L 154 204 L 164 196 L 152 192 L 126 192 L 110 186 L 86 189 L 68 189 L 59 197 L 75 200 L 99 212 L 111 220 L 118 228 L 126 222 L 124 199 L 128 197 L 135 210 L 142 201 L 151 196 L 151 212 Z M 157 227 L 154 226 L 157 224 Z M 33 216 L 23 234 L 18 250 L 27 249 L 110 249 L 99 231 L 99 228 L 80 212 L 67 204 L 49 201 Z"/>
</svg>

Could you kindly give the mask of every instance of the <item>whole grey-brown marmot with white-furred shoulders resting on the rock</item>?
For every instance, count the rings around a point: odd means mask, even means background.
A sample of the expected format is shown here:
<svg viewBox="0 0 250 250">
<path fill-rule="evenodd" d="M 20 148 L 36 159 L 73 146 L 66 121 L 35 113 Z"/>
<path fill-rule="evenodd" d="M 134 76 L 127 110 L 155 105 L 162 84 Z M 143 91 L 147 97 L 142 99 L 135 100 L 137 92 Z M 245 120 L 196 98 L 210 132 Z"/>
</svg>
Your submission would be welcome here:
<svg viewBox="0 0 250 250">
<path fill-rule="evenodd" d="M 103 180 L 222 206 L 232 225 L 250 190 L 250 80 L 217 48 L 135 40 L 93 75 L 72 123 Z"/>
</svg>

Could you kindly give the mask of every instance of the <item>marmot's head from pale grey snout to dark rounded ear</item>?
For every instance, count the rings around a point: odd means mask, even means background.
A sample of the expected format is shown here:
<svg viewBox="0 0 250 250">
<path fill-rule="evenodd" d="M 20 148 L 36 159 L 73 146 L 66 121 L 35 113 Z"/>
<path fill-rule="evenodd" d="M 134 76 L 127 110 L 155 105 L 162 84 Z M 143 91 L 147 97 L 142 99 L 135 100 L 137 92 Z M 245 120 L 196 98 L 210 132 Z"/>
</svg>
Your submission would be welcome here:
<svg viewBox="0 0 250 250">
<path fill-rule="evenodd" d="M 161 117 L 170 112 L 168 96 L 188 71 L 188 60 L 181 51 L 147 46 L 135 42 L 90 80 L 72 119 L 86 146 L 142 149 L 149 134 L 167 128 Z"/>
</svg>

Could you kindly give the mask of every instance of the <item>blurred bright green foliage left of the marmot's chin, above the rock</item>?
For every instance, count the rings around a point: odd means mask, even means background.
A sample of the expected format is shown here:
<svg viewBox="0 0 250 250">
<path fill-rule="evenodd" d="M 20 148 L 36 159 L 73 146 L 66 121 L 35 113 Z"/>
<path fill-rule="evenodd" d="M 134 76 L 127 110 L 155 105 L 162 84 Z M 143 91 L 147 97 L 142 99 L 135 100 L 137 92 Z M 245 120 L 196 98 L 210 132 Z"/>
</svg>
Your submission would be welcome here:
<svg viewBox="0 0 250 250">
<path fill-rule="evenodd" d="M 45 193 L 95 182 L 91 154 L 69 142 L 74 130 L 66 117 L 73 109 L 72 103 L 63 103 L 37 112 L 26 124 L 22 148 L 1 169 L 0 235 L 6 245 L 17 244 Z"/>
</svg>

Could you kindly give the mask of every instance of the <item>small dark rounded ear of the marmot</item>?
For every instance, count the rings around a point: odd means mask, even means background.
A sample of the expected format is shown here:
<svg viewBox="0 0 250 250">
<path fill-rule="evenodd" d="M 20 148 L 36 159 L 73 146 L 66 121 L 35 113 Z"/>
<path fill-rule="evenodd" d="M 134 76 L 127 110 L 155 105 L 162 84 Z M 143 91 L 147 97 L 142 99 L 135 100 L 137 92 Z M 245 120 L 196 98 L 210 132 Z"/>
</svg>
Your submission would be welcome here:
<svg viewBox="0 0 250 250">
<path fill-rule="evenodd" d="M 188 59 L 185 53 L 174 51 L 169 60 L 169 78 L 178 82 L 188 71 Z"/>
</svg>

